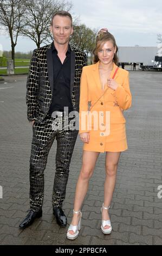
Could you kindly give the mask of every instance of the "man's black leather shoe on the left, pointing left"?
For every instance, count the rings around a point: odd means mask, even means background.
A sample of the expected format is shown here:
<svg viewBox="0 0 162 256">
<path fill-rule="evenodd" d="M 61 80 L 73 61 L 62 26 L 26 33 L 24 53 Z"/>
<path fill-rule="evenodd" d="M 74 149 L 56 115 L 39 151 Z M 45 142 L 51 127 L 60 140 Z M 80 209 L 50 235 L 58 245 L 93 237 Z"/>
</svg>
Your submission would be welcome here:
<svg viewBox="0 0 162 256">
<path fill-rule="evenodd" d="M 30 209 L 28 215 L 23 219 L 19 227 L 21 229 L 27 228 L 34 222 L 36 218 L 40 217 L 42 217 L 42 209 L 39 211 L 33 211 Z"/>
</svg>

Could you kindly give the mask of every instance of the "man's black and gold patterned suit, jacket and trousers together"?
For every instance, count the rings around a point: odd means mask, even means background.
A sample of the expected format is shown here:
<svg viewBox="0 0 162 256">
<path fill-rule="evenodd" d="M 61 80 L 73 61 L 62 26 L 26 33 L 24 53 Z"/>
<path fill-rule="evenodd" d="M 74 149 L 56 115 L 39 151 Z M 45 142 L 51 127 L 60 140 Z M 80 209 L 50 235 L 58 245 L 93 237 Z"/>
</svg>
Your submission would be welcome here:
<svg viewBox="0 0 162 256">
<path fill-rule="evenodd" d="M 86 65 L 86 55 L 72 47 L 70 50 L 70 95 L 74 111 L 79 111 L 80 77 Z M 57 152 L 52 204 L 54 207 L 62 206 L 78 133 L 70 127 L 72 118 L 68 119 L 67 115 L 50 117 L 48 114 L 53 92 L 53 69 L 51 44 L 34 50 L 27 79 L 27 116 L 29 121 L 35 120 L 30 156 L 30 209 L 34 211 L 42 208 L 44 169 L 55 138 Z M 62 129 L 59 129 L 60 125 Z"/>
</svg>

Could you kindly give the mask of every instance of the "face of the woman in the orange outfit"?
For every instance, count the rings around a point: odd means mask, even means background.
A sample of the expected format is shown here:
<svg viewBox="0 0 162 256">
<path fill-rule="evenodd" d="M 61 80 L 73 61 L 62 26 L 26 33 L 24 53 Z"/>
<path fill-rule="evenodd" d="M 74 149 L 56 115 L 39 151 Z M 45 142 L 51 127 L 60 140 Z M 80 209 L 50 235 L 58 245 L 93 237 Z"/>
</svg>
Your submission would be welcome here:
<svg viewBox="0 0 162 256">
<path fill-rule="evenodd" d="M 111 64 L 113 62 L 114 53 L 116 52 L 116 47 L 113 46 L 111 40 L 105 42 L 101 49 L 98 51 L 98 57 L 102 64 Z"/>
</svg>

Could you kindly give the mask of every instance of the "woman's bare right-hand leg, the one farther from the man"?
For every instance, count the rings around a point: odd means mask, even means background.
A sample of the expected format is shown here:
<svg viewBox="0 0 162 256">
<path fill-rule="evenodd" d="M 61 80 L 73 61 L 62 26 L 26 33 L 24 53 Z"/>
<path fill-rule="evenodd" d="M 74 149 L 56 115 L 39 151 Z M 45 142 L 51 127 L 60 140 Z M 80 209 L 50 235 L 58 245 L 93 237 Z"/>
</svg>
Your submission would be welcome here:
<svg viewBox="0 0 162 256">
<path fill-rule="evenodd" d="M 111 204 L 113 192 L 116 184 L 116 173 L 121 152 L 106 153 L 106 178 L 104 185 L 104 206 Z M 102 220 L 109 220 L 108 210 L 102 209 Z M 108 225 L 104 227 L 109 228 Z"/>
</svg>

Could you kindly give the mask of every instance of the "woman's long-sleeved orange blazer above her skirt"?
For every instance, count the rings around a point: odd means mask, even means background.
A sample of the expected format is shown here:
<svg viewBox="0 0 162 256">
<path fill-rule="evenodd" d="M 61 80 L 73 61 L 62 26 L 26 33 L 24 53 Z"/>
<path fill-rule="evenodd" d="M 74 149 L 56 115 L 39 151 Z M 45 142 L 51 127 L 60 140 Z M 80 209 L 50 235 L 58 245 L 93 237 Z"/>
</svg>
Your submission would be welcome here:
<svg viewBox="0 0 162 256">
<path fill-rule="evenodd" d="M 113 77 L 116 68 L 117 66 L 114 64 L 110 76 L 111 78 Z M 90 112 L 103 111 L 104 113 L 105 111 L 109 111 L 111 117 L 111 124 L 126 122 L 121 109 L 128 109 L 129 107 L 131 107 L 132 103 L 132 96 L 129 89 L 129 72 L 125 69 L 119 68 L 118 72 L 114 77 L 114 80 L 116 81 L 116 83 L 118 83 L 118 88 L 116 90 L 113 90 L 111 88 L 107 89 L 107 86 L 105 86 L 104 90 L 102 91 L 99 75 L 99 62 L 93 65 L 83 67 L 80 85 L 79 133 L 88 132 L 87 123 L 84 126 L 86 128 L 83 128 L 83 126 L 81 125 L 83 122 L 83 119 L 81 118 L 81 113 L 82 111 L 88 111 L 88 101 L 91 102 L 92 106 Z M 96 102 L 99 98 L 100 100 Z"/>
</svg>

